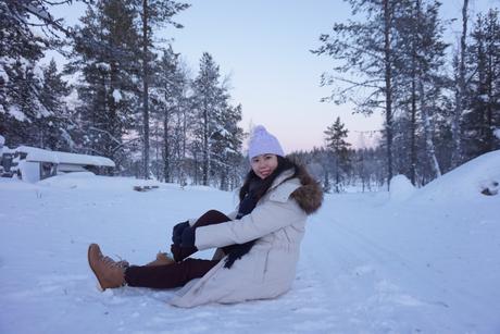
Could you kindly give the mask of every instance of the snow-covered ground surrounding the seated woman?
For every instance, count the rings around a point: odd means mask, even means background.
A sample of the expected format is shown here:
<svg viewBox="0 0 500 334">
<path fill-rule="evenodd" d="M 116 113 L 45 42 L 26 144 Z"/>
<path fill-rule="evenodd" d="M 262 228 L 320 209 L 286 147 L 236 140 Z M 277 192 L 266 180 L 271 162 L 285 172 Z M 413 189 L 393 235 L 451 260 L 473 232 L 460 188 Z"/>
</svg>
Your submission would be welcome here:
<svg viewBox="0 0 500 334">
<path fill-rule="evenodd" d="M 0 333 L 500 333 L 500 151 L 422 189 L 327 195 L 292 289 L 179 309 L 175 290 L 101 293 L 87 247 L 145 263 L 172 226 L 234 193 L 68 174 L 0 180 Z M 497 184 L 495 184 L 497 183 Z M 200 256 L 210 257 L 205 251 Z"/>
</svg>

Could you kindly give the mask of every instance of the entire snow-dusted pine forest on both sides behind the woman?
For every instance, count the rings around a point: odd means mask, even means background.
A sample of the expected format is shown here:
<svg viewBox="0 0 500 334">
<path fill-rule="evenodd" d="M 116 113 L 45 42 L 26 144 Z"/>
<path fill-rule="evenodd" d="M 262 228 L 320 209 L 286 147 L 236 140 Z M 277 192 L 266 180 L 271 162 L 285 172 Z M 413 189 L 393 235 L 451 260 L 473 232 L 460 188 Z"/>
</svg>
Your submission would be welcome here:
<svg viewBox="0 0 500 334">
<path fill-rule="evenodd" d="M 182 28 L 189 4 L 83 1 L 72 27 L 51 12 L 75 1 L 0 1 L 0 134 L 7 145 L 99 154 L 116 173 L 180 184 L 237 187 L 248 161 L 242 106 L 203 53 L 197 70 L 160 32 Z M 375 146 L 351 147 L 338 117 L 321 148 L 293 154 L 330 191 L 378 189 L 396 174 L 421 186 L 500 148 L 500 22 L 463 1 L 457 42 L 430 0 L 350 0 L 312 52 L 332 59 L 325 102 L 383 113 Z M 167 30 L 167 29 L 166 29 Z M 60 52 L 64 66 L 48 62 Z M 279 89 L 279 88 L 277 88 Z"/>
</svg>

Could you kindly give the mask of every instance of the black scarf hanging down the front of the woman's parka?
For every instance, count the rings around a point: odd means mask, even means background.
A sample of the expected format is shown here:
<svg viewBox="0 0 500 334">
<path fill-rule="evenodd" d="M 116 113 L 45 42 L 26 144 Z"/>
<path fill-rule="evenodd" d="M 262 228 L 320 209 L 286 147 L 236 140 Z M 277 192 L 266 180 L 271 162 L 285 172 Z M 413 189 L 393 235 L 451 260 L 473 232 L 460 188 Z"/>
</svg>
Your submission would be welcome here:
<svg viewBox="0 0 500 334">
<path fill-rule="evenodd" d="M 257 202 L 259 201 L 257 194 L 259 193 L 258 189 L 261 186 L 262 182 L 260 180 L 255 180 L 250 184 L 247 195 L 245 195 L 243 199 L 239 202 L 238 214 L 236 215 L 236 219 L 241 219 L 242 217 L 252 212 L 257 206 Z M 236 260 L 241 259 L 242 256 L 249 252 L 254 244 L 255 240 L 251 240 L 245 244 L 229 246 L 224 268 L 229 269 Z"/>
</svg>

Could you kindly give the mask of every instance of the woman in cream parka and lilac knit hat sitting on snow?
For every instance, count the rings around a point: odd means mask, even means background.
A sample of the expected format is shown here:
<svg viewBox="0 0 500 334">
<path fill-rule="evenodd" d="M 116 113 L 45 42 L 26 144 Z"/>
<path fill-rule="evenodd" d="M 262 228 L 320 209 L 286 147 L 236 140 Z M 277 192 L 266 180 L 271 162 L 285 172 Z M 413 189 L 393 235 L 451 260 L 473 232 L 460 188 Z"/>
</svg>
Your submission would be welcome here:
<svg viewBox="0 0 500 334">
<path fill-rule="evenodd" d="M 284 157 L 278 140 L 263 126 L 250 138 L 249 158 L 238 210 L 228 215 L 210 210 L 175 225 L 173 260 L 159 256 L 146 265 L 128 265 L 90 245 L 88 261 L 102 289 L 186 285 L 170 301 L 179 307 L 286 293 L 295 280 L 307 217 L 321 207 L 323 191 L 304 168 Z M 212 260 L 187 258 L 208 248 L 218 248 Z"/>
</svg>

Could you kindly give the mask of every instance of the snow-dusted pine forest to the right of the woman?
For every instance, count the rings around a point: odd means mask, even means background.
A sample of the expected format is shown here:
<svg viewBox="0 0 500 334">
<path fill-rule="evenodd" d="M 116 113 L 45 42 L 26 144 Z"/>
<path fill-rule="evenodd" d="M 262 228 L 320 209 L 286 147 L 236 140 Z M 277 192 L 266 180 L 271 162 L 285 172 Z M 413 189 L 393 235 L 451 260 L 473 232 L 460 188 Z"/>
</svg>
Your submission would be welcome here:
<svg viewBox="0 0 500 334">
<path fill-rule="evenodd" d="M 387 184 L 404 174 L 421 186 L 500 148 L 498 9 L 471 17 L 463 0 L 459 36 L 450 41 L 445 34 L 452 22 L 440 18 L 439 1 L 348 2 L 352 18 L 335 23 L 312 51 L 333 60 L 332 71 L 321 77 L 333 87 L 325 101 L 379 112 L 385 122 L 379 147 L 352 152 L 338 140 L 337 124 L 327 139 L 338 160 L 328 164 L 336 183 L 357 177 Z"/>
</svg>

